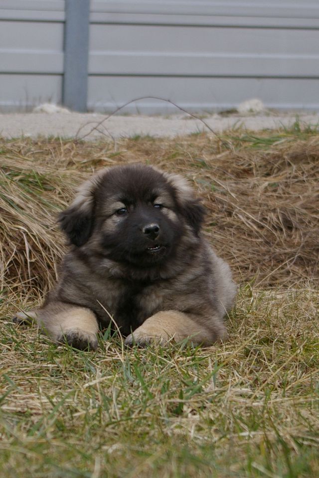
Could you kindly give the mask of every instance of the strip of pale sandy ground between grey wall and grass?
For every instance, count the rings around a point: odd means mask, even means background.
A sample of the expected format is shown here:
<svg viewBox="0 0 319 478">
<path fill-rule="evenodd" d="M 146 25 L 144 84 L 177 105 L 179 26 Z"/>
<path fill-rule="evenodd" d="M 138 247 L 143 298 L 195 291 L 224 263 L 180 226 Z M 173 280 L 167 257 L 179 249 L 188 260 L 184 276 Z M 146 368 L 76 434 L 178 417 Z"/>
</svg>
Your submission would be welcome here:
<svg viewBox="0 0 319 478">
<path fill-rule="evenodd" d="M 318 113 L 298 112 L 299 120 L 305 125 L 319 124 Z M 173 137 L 198 131 L 209 131 L 200 119 L 187 115 L 170 117 L 160 116 L 112 116 L 109 119 L 99 114 L 80 113 L 14 113 L 0 114 L 0 135 L 18 137 L 21 135 L 37 137 L 61 136 L 83 137 L 128 137 L 137 134 L 157 137 Z M 98 124 L 106 119 L 103 124 Z M 291 126 L 296 121 L 294 113 L 263 113 L 255 116 L 212 115 L 203 120 L 216 132 L 239 126 L 251 130 L 264 128 L 275 129 L 280 126 Z M 98 126 L 98 127 L 97 127 Z M 97 128 L 96 128 L 97 127 Z"/>
</svg>

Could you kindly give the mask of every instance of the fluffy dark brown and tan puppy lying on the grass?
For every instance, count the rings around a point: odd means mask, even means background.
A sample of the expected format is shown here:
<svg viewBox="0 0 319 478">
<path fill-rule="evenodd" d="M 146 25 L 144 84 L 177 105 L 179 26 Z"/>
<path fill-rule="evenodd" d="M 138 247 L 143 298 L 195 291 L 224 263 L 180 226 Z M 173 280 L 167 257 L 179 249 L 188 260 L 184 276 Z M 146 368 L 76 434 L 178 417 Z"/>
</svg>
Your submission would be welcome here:
<svg viewBox="0 0 319 478">
<path fill-rule="evenodd" d="M 235 285 L 201 235 L 203 218 L 178 175 L 140 164 L 99 171 L 59 216 L 70 250 L 55 289 L 17 320 L 32 317 L 78 349 L 96 349 L 110 321 L 128 345 L 223 339 Z"/>
</svg>

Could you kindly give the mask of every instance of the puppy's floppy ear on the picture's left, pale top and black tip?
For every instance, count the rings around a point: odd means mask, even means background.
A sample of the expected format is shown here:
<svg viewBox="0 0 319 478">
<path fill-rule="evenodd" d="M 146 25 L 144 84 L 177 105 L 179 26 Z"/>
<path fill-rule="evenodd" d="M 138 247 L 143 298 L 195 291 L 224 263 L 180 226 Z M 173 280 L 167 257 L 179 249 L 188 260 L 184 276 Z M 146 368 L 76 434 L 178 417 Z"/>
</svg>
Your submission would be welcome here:
<svg viewBox="0 0 319 478">
<path fill-rule="evenodd" d="M 85 181 L 70 207 L 59 214 L 60 228 L 74 245 L 85 244 L 91 236 L 94 225 L 94 192 L 105 172 L 102 170 Z"/>
</svg>

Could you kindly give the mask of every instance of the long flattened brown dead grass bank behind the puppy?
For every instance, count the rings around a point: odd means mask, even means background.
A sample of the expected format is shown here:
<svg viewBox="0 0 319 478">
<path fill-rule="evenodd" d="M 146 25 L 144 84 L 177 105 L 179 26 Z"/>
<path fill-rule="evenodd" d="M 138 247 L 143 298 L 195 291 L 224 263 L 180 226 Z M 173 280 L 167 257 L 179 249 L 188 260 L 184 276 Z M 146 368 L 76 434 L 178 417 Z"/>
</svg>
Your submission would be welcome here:
<svg viewBox="0 0 319 478">
<path fill-rule="evenodd" d="M 296 133 L 297 134 L 297 133 Z M 224 144 L 229 144 L 225 148 Z M 205 234 L 239 282 L 318 279 L 319 138 L 231 132 L 178 139 L 0 142 L 1 289 L 42 295 L 64 239 L 55 218 L 95 169 L 141 161 L 188 177 L 204 198 Z"/>
</svg>

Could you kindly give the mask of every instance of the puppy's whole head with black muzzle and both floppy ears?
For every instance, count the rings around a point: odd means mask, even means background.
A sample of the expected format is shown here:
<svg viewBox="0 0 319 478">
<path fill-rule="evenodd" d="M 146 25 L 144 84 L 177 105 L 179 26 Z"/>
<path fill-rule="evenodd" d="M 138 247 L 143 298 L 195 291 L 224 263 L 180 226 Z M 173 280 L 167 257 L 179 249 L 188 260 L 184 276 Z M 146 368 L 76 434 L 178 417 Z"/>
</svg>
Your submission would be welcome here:
<svg viewBox="0 0 319 478">
<path fill-rule="evenodd" d="M 182 177 L 134 164 L 86 181 L 59 221 L 74 245 L 143 268 L 170 257 L 186 233 L 195 238 L 203 216 Z"/>
</svg>

